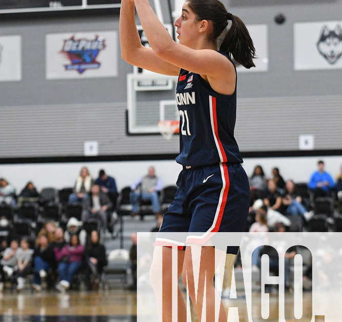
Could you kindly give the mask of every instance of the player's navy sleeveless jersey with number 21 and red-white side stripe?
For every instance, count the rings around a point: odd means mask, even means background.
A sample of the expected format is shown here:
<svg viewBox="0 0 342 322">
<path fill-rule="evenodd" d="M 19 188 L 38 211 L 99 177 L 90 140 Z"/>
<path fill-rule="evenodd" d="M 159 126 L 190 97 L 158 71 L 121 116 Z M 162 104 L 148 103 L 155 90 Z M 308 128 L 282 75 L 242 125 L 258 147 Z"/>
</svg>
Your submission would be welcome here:
<svg viewBox="0 0 342 322">
<path fill-rule="evenodd" d="M 228 54 L 219 52 L 230 60 Z M 236 83 L 233 94 L 220 94 L 199 74 L 180 69 L 176 102 L 180 115 L 178 163 L 194 167 L 243 162 L 234 138 Z"/>
</svg>

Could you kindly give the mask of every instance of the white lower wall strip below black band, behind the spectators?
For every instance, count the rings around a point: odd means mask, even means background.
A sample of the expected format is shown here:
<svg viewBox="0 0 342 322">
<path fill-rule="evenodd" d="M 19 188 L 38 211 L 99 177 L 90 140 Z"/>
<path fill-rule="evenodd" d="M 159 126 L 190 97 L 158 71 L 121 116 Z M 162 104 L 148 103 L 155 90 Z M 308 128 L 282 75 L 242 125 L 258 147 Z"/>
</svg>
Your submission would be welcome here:
<svg viewBox="0 0 342 322">
<path fill-rule="evenodd" d="M 342 158 L 338 156 L 245 158 L 243 166 L 248 176 L 252 174 L 254 166 L 260 164 L 267 178 L 272 177 L 271 170 L 277 166 L 285 180 L 308 182 L 320 159 L 325 161 L 326 170 L 335 179 L 342 165 Z M 90 174 L 94 178 L 97 178 L 99 169 L 104 168 L 116 179 L 119 190 L 145 175 L 150 165 L 155 167 L 156 174 L 162 178 L 164 186 L 174 185 L 182 169 L 174 160 L 2 164 L 0 177 L 5 177 L 16 188 L 17 193 L 21 192 L 29 180 L 32 180 L 39 190 L 48 186 L 61 189 L 74 185 L 76 176 L 83 165 L 89 167 Z"/>
</svg>

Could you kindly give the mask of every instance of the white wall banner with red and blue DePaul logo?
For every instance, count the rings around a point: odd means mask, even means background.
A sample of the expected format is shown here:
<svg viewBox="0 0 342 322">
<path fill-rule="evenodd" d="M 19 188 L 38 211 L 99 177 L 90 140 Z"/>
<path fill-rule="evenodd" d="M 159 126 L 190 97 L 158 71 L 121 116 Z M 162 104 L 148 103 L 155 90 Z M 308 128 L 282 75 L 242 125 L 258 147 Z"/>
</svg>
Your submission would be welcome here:
<svg viewBox="0 0 342 322">
<path fill-rule="evenodd" d="M 117 76 L 117 32 L 46 35 L 46 78 L 82 79 Z"/>
</svg>

